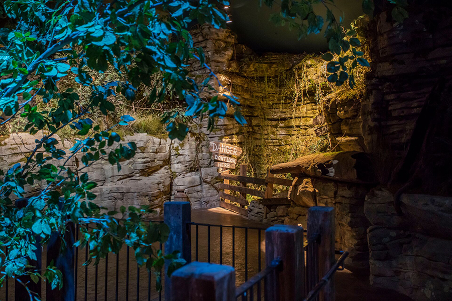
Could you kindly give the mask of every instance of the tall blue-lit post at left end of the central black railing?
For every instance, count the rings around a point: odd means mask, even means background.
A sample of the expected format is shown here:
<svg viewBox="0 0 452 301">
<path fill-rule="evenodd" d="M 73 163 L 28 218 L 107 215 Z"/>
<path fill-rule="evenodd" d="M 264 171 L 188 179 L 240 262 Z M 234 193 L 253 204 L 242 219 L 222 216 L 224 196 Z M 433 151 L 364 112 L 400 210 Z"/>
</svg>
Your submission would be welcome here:
<svg viewBox="0 0 452 301">
<path fill-rule="evenodd" d="M 191 205 L 190 202 L 166 202 L 163 204 L 164 222 L 170 228 L 165 242 L 165 254 L 180 251 L 181 258 L 191 262 Z M 168 277 L 168 265 L 165 262 L 165 300 L 171 300 L 171 278 Z"/>
</svg>

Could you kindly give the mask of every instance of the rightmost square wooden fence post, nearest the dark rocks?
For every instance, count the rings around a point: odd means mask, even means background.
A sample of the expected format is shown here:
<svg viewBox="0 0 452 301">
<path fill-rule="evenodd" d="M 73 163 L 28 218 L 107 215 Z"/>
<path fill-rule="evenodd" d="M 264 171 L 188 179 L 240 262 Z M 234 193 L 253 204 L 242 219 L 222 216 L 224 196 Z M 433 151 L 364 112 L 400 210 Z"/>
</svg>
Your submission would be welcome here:
<svg viewBox="0 0 452 301">
<path fill-rule="evenodd" d="M 320 235 L 318 241 L 318 277 L 322 278 L 335 262 L 334 258 L 334 208 L 311 207 L 308 210 L 308 240 Z M 319 280 L 317 279 L 317 281 Z M 334 301 L 334 277 L 320 291 L 319 301 Z"/>
</svg>

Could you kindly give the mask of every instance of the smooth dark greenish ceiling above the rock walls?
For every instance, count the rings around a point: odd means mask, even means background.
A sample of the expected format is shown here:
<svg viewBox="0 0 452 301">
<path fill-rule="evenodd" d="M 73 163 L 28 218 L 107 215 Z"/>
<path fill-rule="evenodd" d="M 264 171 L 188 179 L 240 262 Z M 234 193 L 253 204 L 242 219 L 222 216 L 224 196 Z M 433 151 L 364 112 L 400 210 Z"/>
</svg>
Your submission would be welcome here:
<svg viewBox="0 0 452 301">
<path fill-rule="evenodd" d="M 280 0 L 275 0 L 272 9 L 263 5 L 259 7 L 259 0 L 230 0 L 232 23 L 230 28 L 238 35 L 239 43 L 245 44 L 256 52 L 288 52 L 288 53 L 318 53 L 327 50 L 323 33 L 310 35 L 298 40 L 296 30 L 289 31 L 288 26 L 276 27 L 269 21 L 270 15 L 279 12 Z M 363 15 L 362 0 L 335 0 L 332 11 L 337 20 L 344 16 L 344 25 Z M 326 9 L 316 5 L 314 12 L 325 16 Z"/>
</svg>

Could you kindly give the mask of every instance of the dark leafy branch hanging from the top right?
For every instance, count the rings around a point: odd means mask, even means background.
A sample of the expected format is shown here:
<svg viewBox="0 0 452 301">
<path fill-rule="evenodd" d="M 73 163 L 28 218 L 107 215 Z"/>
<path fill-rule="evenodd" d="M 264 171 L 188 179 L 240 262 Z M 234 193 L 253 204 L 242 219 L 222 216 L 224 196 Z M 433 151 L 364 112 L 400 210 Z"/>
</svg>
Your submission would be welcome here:
<svg viewBox="0 0 452 301">
<path fill-rule="evenodd" d="M 396 22 L 402 23 L 408 18 L 405 7 L 407 0 L 387 0 L 394 5 L 392 17 Z M 273 0 L 263 0 L 265 5 L 272 7 Z M 262 4 L 262 0 L 260 1 Z M 319 16 L 315 13 L 315 6 L 322 5 L 326 9 L 326 16 Z M 310 34 L 323 35 L 328 42 L 329 52 L 323 55 L 323 59 L 328 61 L 327 72 L 331 73 L 328 81 L 342 86 L 348 82 L 353 89 L 356 85 L 353 70 L 358 66 L 370 67 L 369 62 L 364 58 L 364 53 L 359 51 L 361 41 L 355 37 L 356 31 L 344 31 L 343 18 L 336 19 L 331 8 L 334 7 L 334 0 L 282 0 L 280 14 L 273 14 L 270 19 L 276 25 L 284 26 L 288 24 L 289 29 L 298 31 L 298 39 L 305 38 Z M 363 11 L 372 15 L 374 12 L 373 0 L 363 0 Z M 337 61 L 334 59 L 337 58 Z M 348 62 L 351 62 L 348 64 Z"/>
</svg>

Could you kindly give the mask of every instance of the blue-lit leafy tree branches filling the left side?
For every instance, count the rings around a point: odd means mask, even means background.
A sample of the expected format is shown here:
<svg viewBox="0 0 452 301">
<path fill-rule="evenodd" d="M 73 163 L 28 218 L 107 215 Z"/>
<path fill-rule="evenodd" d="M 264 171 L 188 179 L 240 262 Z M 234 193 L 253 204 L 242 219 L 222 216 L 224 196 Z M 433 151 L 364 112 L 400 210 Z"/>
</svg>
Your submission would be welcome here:
<svg viewBox="0 0 452 301">
<path fill-rule="evenodd" d="M 19 118 L 24 121 L 23 130 L 43 134 L 37 136 L 36 147 L 25 163 L 2 173 L 0 270 L 4 272 L 0 282 L 29 274 L 33 281 L 42 277 L 52 288 L 61 287 L 62 275 L 53 263 L 41 273 L 28 268 L 28 260 L 36 259 L 37 237 L 46 244 L 52 233 L 64 235 L 68 222 L 80 226 L 82 235 L 75 244 L 88 248 L 85 264 L 98 263 L 124 244 L 135 250 L 140 265 L 156 272 L 164 259 L 173 260 L 169 271 L 184 263 L 177 253 L 164 256 L 153 251 L 153 243 L 167 239 L 168 227 L 146 222 L 151 213 L 146 206 L 107 212 L 92 202 L 97 184 L 89 180 L 86 169 L 103 158 L 120 170 L 121 162 L 131 159 L 137 146 L 122 143 L 114 131 L 133 122 L 131 116 L 123 115 L 111 127 L 101 129 L 87 115 L 115 112 L 113 98 L 121 95 L 133 100 L 137 87 L 150 86 L 158 73 L 160 81 L 148 96 L 150 102 L 163 102 L 168 91 L 186 102 L 186 112 L 165 116 L 171 138 L 185 137 L 187 126 L 182 119 L 187 122 L 206 114 L 213 124 L 214 118 L 224 116 L 224 102 L 199 96 L 213 89 L 210 78 L 196 82 L 187 70 L 190 60 L 204 64 L 202 50 L 193 46 L 189 23 L 224 26 L 227 16 L 217 9 L 218 4 L 227 5 L 207 0 L 3 2 L 1 11 L 9 26 L 0 29 L 0 110 L 9 117 L 2 124 Z M 109 69 L 121 74 L 120 79 L 93 81 L 93 72 Z M 73 88 L 59 85 L 65 78 L 87 87 L 89 99 L 81 102 Z M 227 97 L 237 107 L 239 102 Z M 50 103 L 54 105 L 42 105 Z M 184 115 L 182 119 L 180 115 Z M 235 116 L 245 122 L 240 111 Z M 68 126 L 79 138 L 66 154 L 56 133 Z M 42 189 L 29 197 L 29 186 L 37 184 Z M 22 197 L 29 198 L 19 208 L 14 200 Z M 39 298 L 29 293 L 30 298 Z"/>
</svg>

